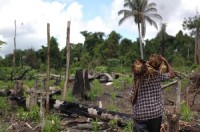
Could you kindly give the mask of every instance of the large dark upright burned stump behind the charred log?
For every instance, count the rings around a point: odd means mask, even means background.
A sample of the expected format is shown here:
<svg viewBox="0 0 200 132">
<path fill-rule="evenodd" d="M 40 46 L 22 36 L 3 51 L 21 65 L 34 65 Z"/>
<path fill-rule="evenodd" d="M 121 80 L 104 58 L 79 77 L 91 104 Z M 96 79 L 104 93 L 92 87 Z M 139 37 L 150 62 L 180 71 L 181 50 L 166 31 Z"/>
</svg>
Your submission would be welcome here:
<svg viewBox="0 0 200 132">
<path fill-rule="evenodd" d="M 77 70 L 72 94 L 75 96 L 86 97 L 90 90 L 87 70 Z"/>
</svg>

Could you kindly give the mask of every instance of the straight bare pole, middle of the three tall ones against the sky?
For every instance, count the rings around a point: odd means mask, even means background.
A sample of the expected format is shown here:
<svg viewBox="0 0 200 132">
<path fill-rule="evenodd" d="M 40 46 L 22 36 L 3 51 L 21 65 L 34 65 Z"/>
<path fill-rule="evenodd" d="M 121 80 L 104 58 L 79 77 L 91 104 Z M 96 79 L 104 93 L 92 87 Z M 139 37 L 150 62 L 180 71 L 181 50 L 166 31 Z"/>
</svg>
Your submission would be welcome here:
<svg viewBox="0 0 200 132">
<path fill-rule="evenodd" d="M 47 23 L 47 43 L 48 43 L 48 60 L 47 60 L 47 83 L 46 83 L 46 112 L 49 112 L 49 82 L 50 82 L 50 24 Z"/>
</svg>

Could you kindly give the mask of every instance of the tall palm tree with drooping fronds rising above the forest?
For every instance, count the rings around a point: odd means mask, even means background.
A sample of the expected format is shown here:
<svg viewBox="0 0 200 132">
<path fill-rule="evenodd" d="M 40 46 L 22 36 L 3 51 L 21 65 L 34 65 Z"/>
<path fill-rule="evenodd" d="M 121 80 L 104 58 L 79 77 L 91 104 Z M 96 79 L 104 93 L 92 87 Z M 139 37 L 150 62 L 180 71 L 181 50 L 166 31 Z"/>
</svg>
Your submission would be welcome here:
<svg viewBox="0 0 200 132">
<path fill-rule="evenodd" d="M 138 26 L 141 59 L 144 59 L 142 37 L 145 37 L 146 21 L 158 29 L 153 18 L 162 20 L 162 17 L 157 14 L 156 3 L 148 3 L 148 0 L 124 0 L 124 9 L 118 12 L 118 15 L 121 14 L 123 14 L 123 17 L 120 19 L 119 25 L 129 18 L 134 18 Z"/>
</svg>

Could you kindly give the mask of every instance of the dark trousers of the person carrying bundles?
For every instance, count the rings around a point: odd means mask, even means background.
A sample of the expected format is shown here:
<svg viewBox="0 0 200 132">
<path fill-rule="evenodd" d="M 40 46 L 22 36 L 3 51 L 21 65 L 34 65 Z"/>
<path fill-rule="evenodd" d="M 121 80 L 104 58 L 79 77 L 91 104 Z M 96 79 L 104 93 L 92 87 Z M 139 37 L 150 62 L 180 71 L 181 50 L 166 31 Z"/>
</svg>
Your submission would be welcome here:
<svg viewBox="0 0 200 132">
<path fill-rule="evenodd" d="M 134 132 L 160 132 L 162 116 L 149 120 L 135 120 Z"/>
</svg>

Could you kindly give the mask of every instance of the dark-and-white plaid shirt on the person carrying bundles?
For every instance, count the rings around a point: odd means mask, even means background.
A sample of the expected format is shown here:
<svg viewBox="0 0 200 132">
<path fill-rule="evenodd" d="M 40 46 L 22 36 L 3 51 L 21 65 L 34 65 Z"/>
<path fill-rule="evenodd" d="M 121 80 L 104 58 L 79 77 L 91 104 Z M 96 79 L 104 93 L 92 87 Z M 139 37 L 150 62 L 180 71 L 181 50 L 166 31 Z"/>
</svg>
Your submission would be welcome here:
<svg viewBox="0 0 200 132">
<path fill-rule="evenodd" d="M 170 78 L 169 73 L 153 74 L 141 81 L 137 101 L 133 106 L 133 118 L 148 120 L 161 116 L 164 110 L 161 82 Z M 132 92 L 133 94 L 133 92 Z"/>
</svg>

